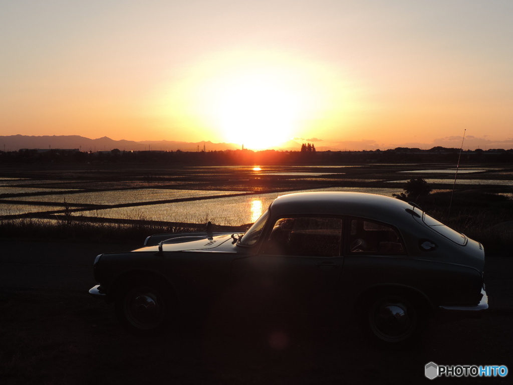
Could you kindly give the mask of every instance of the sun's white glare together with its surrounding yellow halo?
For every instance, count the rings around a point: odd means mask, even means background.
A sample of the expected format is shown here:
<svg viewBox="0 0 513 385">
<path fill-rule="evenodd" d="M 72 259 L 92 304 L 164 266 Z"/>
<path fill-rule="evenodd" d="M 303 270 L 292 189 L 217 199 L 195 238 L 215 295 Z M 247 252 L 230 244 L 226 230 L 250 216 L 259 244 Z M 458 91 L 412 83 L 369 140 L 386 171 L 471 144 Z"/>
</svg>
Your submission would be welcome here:
<svg viewBox="0 0 513 385">
<path fill-rule="evenodd" d="M 206 55 L 154 90 L 149 110 L 174 140 L 284 148 L 292 138 L 322 137 L 347 120 L 347 90 L 337 70 L 274 51 Z M 151 106 L 150 106 L 151 104 Z M 170 122 L 170 123 L 169 123 Z"/>
</svg>

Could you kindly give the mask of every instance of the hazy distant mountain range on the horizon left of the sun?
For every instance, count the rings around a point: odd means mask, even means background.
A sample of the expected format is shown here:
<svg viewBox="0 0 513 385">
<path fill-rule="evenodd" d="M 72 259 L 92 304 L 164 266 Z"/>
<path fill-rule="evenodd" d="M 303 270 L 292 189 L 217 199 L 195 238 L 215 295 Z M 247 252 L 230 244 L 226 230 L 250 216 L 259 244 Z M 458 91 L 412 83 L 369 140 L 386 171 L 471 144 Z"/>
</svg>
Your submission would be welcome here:
<svg viewBox="0 0 513 385">
<path fill-rule="evenodd" d="M 299 145 L 301 147 L 301 145 Z M 115 148 L 123 151 L 145 151 L 145 150 L 162 150 L 162 151 L 223 151 L 240 149 L 241 146 L 234 143 L 212 143 L 210 141 L 189 143 L 175 141 L 142 141 L 134 142 L 130 140 L 112 140 L 107 137 L 98 139 L 84 138 L 78 135 L 61 135 L 61 136 L 26 136 L 11 135 L 0 136 L 0 150 L 18 151 L 22 148 L 59 148 L 59 149 L 75 149 L 82 151 L 110 151 Z"/>
</svg>

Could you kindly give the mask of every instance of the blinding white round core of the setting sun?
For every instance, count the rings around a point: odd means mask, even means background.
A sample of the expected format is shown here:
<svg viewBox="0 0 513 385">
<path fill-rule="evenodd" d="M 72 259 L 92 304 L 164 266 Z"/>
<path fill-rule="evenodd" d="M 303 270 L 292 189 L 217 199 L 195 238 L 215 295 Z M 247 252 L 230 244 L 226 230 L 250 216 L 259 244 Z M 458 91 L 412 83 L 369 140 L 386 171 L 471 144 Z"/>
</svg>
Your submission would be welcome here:
<svg viewBox="0 0 513 385">
<path fill-rule="evenodd" d="M 246 74 L 222 85 L 215 115 L 225 140 L 259 150 L 290 139 L 300 104 L 277 76 Z"/>
</svg>

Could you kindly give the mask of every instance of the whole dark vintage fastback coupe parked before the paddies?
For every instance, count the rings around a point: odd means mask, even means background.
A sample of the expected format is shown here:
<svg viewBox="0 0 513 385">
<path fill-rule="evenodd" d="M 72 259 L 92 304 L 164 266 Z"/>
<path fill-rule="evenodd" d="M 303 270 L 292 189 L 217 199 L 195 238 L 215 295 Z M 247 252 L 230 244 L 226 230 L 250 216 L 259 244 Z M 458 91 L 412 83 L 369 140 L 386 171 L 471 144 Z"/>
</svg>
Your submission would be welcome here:
<svg viewBox="0 0 513 385">
<path fill-rule="evenodd" d="M 154 235 L 94 261 L 120 321 L 161 332 L 214 309 L 358 315 L 379 341 L 414 339 L 426 318 L 487 309 L 483 246 L 413 203 L 358 192 L 274 200 L 244 234 Z"/>
</svg>

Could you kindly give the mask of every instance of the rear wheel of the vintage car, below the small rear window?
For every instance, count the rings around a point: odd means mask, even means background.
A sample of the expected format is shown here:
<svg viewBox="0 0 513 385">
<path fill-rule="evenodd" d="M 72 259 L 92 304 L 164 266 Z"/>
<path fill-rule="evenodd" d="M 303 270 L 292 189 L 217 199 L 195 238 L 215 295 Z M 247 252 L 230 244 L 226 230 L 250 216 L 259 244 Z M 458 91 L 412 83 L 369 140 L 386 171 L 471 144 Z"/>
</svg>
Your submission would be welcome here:
<svg viewBox="0 0 513 385">
<path fill-rule="evenodd" d="M 365 306 L 364 320 L 371 337 L 382 343 L 403 345 L 411 343 L 424 329 L 422 307 L 402 294 L 375 297 Z"/>
</svg>

